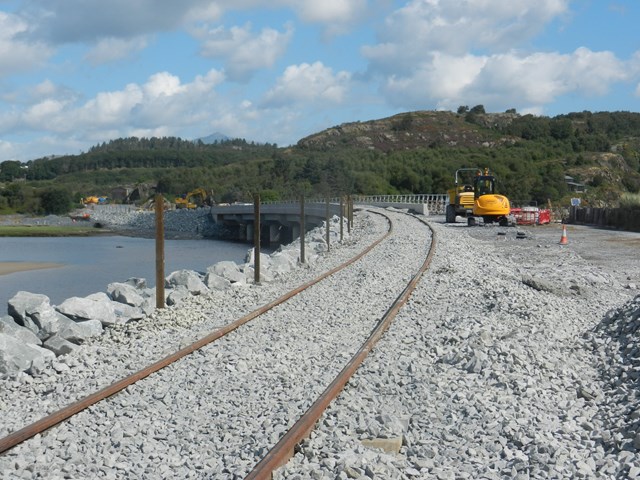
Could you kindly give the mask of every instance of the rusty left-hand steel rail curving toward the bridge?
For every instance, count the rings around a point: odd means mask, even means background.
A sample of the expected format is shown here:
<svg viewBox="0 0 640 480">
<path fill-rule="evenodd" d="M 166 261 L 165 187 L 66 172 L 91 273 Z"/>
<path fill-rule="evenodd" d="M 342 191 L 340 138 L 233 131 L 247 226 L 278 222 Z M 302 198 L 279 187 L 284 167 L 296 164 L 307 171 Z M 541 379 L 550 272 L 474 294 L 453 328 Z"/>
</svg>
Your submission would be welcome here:
<svg viewBox="0 0 640 480">
<path fill-rule="evenodd" d="M 202 347 L 204 347 L 205 345 L 208 345 L 211 342 L 214 342 L 215 340 L 218 340 L 219 338 L 227 335 L 228 333 L 236 330 L 238 327 L 244 325 L 245 323 L 255 319 L 256 317 L 264 314 L 265 312 L 268 312 L 269 310 L 277 307 L 278 305 L 286 302 L 287 300 L 291 299 L 292 297 L 298 295 L 299 293 L 303 292 L 304 290 L 312 287 L 313 285 L 315 285 L 316 283 L 321 282 L 322 280 L 324 280 L 325 278 L 333 275 L 334 273 L 339 272 L 340 270 L 348 267 L 349 265 L 351 265 L 352 263 L 358 261 L 359 259 L 361 259 L 362 257 L 364 257 L 367 253 L 369 253 L 371 250 L 373 250 L 375 247 L 377 247 L 383 240 L 385 240 L 386 238 L 389 237 L 389 235 L 391 235 L 391 233 L 393 232 L 393 223 L 391 222 L 391 219 L 379 212 L 375 212 L 375 211 L 371 211 L 371 213 L 375 213 L 378 215 L 381 215 L 383 217 L 385 217 L 387 219 L 388 222 L 388 230 L 387 232 L 380 237 L 378 240 L 376 240 L 375 242 L 373 242 L 371 245 L 369 245 L 367 248 L 365 248 L 363 251 L 361 251 L 358 255 L 356 255 L 355 257 L 352 257 L 351 259 L 349 259 L 348 261 L 338 265 L 337 267 L 332 268 L 331 270 L 328 270 L 327 272 L 323 273 L 322 275 L 320 275 L 319 277 L 310 280 L 309 282 L 306 282 L 302 285 L 300 285 L 299 287 L 295 288 L 294 290 L 291 290 L 287 293 L 285 293 L 284 295 L 278 297 L 277 299 L 273 300 L 270 303 L 267 303 L 266 305 L 263 305 L 262 307 L 252 311 L 251 313 L 235 320 L 232 323 L 229 323 L 228 325 L 225 325 L 224 327 L 221 327 L 217 330 L 215 330 L 214 332 L 210 333 L 209 335 L 201 338 L 200 340 L 178 350 L 176 353 L 173 353 L 167 357 L 164 357 L 161 360 L 158 360 L 157 362 L 149 365 L 148 367 L 143 368 L 142 370 L 139 370 L 136 373 L 133 373 L 121 380 L 118 380 L 117 382 L 103 388 L 102 390 L 99 390 L 95 393 L 92 393 L 90 395 L 88 395 L 87 397 L 84 397 L 80 400 L 78 400 L 77 402 L 72 403 L 71 405 L 68 405 L 60 410 L 58 410 L 57 412 L 54 412 L 50 415 L 47 415 L 46 417 L 30 424 L 27 425 L 23 428 L 21 428 L 20 430 L 16 430 L 15 432 L 7 435 L 6 437 L 0 439 L 0 454 L 6 452 L 7 450 L 15 447 L 16 445 L 24 442 L 25 440 L 28 440 L 42 432 L 44 432 L 45 430 L 48 430 L 49 428 L 65 421 L 66 419 L 72 417 L 73 415 L 76 415 L 78 413 L 80 413 L 83 410 L 86 410 L 87 408 L 89 408 L 91 405 L 94 405 L 122 390 L 124 390 L 125 388 L 133 385 L 134 383 L 142 380 L 143 378 L 148 377 L 149 375 L 151 375 L 152 373 L 155 373 L 169 365 L 171 365 L 172 363 L 180 360 L 183 357 L 186 357 L 187 355 L 190 355 L 191 353 L 195 352 L 196 350 L 201 349 Z"/>
</svg>

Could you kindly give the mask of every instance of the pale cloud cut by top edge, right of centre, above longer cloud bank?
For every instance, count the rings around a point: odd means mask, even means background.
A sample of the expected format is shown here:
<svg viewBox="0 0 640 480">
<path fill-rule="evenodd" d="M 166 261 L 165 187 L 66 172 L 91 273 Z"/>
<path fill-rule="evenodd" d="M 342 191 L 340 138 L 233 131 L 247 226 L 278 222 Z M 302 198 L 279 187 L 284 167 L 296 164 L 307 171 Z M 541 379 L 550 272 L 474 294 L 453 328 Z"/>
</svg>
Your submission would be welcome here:
<svg viewBox="0 0 640 480">
<path fill-rule="evenodd" d="M 567 11 L 568 0 L 412 0 L 394 12 L 363 55 L 373 70 L 409 71 L 434 52 L 506 52 Z"/>
</svg>

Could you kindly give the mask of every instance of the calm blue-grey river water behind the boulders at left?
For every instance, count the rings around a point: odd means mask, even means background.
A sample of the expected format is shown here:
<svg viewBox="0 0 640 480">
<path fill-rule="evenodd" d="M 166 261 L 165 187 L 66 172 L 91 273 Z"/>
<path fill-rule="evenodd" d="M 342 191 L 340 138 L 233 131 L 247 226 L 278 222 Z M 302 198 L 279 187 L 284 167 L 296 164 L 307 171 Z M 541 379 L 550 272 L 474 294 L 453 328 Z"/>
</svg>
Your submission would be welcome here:
<svg viewBox="0 0 640 480">
<path fill-rule="evenodd" d="M 206 271 L 221 261 L 243 263 L 250 245 L 220 240 L 165 240 L 165 277 L 181 269 Z M 112 282 L 145 278 L 155 286 L 155 240 L 99 237 L 0 237 L 0 262 L 54 262 L 59 268 L 0 275 L 0 316 L 18 291 L 42 293 L 52 305 L 106 292 Z"/>
</svg>

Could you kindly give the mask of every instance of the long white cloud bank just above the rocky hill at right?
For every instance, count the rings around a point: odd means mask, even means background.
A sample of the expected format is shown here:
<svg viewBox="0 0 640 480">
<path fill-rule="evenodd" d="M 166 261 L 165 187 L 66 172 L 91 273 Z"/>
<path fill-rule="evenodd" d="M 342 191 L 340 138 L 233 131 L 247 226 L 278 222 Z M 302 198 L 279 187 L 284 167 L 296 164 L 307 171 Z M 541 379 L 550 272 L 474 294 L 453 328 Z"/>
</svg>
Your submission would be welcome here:
<svg viewBox="0 0 640 480">
<path fill-rule="evenodd" d="M 567 93 L 597 96 L 629 80 L 611 52 L 579 48 L 571 54 L 517 52 L 461 57 L 434 54 L 416 72 L 391 76 L 384 92 L 398 106 L 455 109 L 484 104 L 494 111 L 518 105 L 540 108 Z"/>
</svg>

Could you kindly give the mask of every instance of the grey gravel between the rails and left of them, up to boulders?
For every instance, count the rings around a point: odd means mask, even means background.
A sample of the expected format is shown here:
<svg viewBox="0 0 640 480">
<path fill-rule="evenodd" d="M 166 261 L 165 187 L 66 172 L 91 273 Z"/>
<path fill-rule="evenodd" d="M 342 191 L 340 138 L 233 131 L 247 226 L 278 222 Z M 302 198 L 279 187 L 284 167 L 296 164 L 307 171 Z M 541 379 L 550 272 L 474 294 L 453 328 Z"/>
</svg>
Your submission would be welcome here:
<svg viewBox="0 0 640 480">
<path fill-rule="evenodd" d="M 0 395 L 3 428 L 20 428 L 175 352 L 352 257 L 386 230 L 385 218 L 358 215 L 353 235 L 282 281 L 194 297 L 109 328 L 38 375 L 8 379 Z M 404 287 L 382 280 L 408 279 L 429 235 L 415 219 L 398 223 L 374 255 L 12 449 L 0 457 L 0 472 L 24 478 L 243 477 L 359 348 Z M 416 242 L 415 255 L 405 256 L 407 243 Z"/>
</svg>

